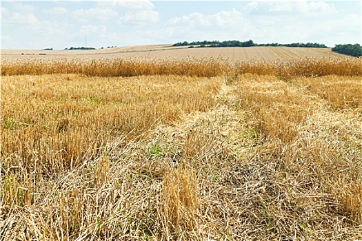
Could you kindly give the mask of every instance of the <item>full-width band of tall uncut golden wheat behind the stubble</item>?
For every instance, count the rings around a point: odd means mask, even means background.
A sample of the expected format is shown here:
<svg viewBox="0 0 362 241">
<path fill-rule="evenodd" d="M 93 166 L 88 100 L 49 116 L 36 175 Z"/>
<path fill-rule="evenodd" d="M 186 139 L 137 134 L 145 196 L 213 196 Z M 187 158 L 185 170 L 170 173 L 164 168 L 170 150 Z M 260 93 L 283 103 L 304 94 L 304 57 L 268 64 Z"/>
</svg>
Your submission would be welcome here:
<svg viewBox="0 0 362 241">
<path fill-rule="evenodd" d="M 305 58 L 294 61 L 239 61 L 225 59 L 3 59 L 1 75 L 85 74 L 87 76 L 139 76 L 175 74 L 185 76 L 218 76 L 269 74 L 280 78 L 294 76 L 359 76 L 362 60 L 352 57 Z"/>
</svg>

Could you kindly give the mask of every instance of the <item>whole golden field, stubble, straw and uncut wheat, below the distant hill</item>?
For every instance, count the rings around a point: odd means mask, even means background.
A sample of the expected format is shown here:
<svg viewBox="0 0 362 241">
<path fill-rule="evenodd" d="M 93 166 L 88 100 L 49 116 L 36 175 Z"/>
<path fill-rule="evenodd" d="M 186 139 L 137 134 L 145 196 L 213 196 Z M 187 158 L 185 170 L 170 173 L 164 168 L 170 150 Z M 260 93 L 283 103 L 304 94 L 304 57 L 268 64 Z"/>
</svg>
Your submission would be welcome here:
<svg viewBox="0 0 362 241">
<path fill-rule="evenodd" d="M 362 239 L 361 59 L 268 51 L 3 58 L 1 240 Z"/>
</svg>

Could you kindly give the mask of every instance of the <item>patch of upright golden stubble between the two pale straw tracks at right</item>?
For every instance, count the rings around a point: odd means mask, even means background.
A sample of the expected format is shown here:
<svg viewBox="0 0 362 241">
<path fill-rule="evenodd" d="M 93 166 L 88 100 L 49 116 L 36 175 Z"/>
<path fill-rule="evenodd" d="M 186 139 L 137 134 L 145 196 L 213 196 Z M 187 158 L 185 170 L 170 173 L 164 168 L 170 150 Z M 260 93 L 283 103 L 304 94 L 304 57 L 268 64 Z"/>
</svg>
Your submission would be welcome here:
<svg viewBox="0 0 362 241">
<path fill-rule="evenodd" d="M 299 90 L 293 90 L 276 76 L 247 75 L 241 76 L 239 82 L 240 105 L 256 116 L 259 132 L 282 143 L 292 141 L 298 134 L 298 126 L 310 114 Z"/>
</svg>

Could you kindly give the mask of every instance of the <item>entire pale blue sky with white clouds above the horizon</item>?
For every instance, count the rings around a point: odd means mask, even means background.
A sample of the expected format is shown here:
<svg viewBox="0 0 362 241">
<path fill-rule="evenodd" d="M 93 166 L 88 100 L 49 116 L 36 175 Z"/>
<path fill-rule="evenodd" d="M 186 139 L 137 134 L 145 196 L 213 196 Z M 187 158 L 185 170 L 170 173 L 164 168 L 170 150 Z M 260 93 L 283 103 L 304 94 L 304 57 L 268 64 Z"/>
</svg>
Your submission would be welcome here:
<svg viewBox="0 0 362 241">
<path fill-rule="evenodd" d="M 361 1 L 1 1 L 1 49 L 183 41 L 362 44 Z"/>
</svg>

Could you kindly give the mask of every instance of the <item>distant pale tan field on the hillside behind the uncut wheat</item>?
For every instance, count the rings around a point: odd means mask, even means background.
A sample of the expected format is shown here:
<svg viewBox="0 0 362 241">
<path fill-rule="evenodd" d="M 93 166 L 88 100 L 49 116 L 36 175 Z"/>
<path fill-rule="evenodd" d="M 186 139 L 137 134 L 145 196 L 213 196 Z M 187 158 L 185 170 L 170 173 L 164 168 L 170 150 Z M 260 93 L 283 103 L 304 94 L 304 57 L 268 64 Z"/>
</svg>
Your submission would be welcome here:
<svg viewBox="0 0 362 241">
<path fill-rule="evenodd" d="M 112 59 L 140 57 L 148 59 L 223 58 L 232 62 L 239 60 L 292 60 L 304 57 L 343 56 L 330 48 L 287 48 L 287 47 L 249 47 L 249 48 L 192 48 L 172 47 L 172 45 L 140 45 L 103 50 L 2 50 L 3 59 L 74 58 L 74 59 Z"/>
</svg>

